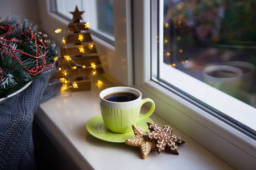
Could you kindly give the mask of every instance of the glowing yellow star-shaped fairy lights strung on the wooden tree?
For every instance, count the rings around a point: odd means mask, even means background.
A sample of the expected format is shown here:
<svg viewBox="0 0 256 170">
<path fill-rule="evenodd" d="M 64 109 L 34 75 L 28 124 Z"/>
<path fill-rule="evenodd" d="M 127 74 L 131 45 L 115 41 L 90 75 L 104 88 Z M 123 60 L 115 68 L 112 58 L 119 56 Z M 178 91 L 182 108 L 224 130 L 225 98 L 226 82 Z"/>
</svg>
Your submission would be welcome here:
<svg viewBox="0 0 256 170">
<path fill-rule="evenodd" d="M 90 25 L 89 22 L 85 23 L 84 27 L 89 28 L 89 25 Z M 75 27 L 76 27 L 76 24 L 75 24 Z M 61 31 L 62 31 L 62 29 L 59 28 L 59 29 L 55 30 L 55 33 L 61 33 Z M 78 40 L 81 41 L 81 42 L 84 40 L 84 35 L 82 33 L 79 33 Z M 68 54 L 68 48 L 65 45 L 66 42 L 67 42 L 67 40 L 65 39 L 65 37 L 63 37 L 62 40 L 61 40 L 61 43 L 64 44 L 64 48 L 67 50 L 67 54 Z M 95 46 L 94 46 L 93 43 L 89 43 L 87 46 L 86 45 L 78 45 L 78 49 L 79 49 L 79 52 L 81 54 L 89 54 L 90 50 L 93 50 L 94 48 L 95 48 Z M 78 74 L 80 74 L 80 69 L 86 69 L 86 68 L 92 68 L 92 71 L 91 71 L 90 75 L 96 76 L 98 74 L 97 70 L 96 70 L 97 65 L 94 62 L 90 63 L 90 65 L 80 65 L 79 63 L 73 61 L 72 57 L 69 56 L 69 55 L 65 55 L 63 57 L 65 58 L 65 61 L 67 61 L 69 68 L 71 68 L 73 70 L 77 70 Z M 58 58 L 59 57 L 56 57 L 55 61 L 57 61 Z M 71 62 L 72 62 L 72 66 L 71 66 Z M 60 71 L 63 70 L 61 72 L 63 77 L 60 78 L 60 81 L 63 83 L 63 85 L 61 87 L 62 92 L 70 90 L 71 88 L 79 88 L 79 86 L 76 82 L 73 82 L 71 84 L 71 80 L 68 78 L 68 73 L 65 70 L 65 68 L 58 67 L 57 69 L 60 70 Z M 96 86 L 98 88 L 101 88 L 103 86 L 103 82 L 101 80 L 97 80 Z"/>
</svg>

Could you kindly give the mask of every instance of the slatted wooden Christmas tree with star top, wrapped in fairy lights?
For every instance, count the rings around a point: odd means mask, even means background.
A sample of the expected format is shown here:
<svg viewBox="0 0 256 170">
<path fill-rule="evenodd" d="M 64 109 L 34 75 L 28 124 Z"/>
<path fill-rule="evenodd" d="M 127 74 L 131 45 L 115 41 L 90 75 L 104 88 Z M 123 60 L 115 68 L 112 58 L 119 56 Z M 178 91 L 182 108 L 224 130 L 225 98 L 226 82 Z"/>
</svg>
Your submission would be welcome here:
<svg viewBox="0 0 256 170">
<path fill-rule="evenodd" d="M 104 73 L 96 47 L 90 36 L 89 23 L 80 23 L 82 13 L 76 6 L 72 22 L 63 38 L 56 79 L 70 80 L 72 92 L 90 90 L 89 75 Z"/>
</svg>

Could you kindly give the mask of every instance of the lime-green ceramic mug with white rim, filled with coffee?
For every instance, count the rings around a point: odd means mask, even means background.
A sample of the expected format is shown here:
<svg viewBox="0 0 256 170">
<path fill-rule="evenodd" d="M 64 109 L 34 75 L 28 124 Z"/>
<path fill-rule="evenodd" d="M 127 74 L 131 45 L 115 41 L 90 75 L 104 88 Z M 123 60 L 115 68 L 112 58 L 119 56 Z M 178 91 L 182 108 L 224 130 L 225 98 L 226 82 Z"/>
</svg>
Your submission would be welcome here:
<svg viewBox="0 0 256 170">
<path fill-rule="evenodd" d="M 151 109 L 140 116 L 141 107 L 150 102 Z M 127 133 L 132 130 L 131 125 L 149 117 L 155 110 L 152 99 L 142 99 L 142 94 L 131 87 L 110 87 L 100 93 L 101 114 L 110 131 L 114 133 Z"/>
</svg>

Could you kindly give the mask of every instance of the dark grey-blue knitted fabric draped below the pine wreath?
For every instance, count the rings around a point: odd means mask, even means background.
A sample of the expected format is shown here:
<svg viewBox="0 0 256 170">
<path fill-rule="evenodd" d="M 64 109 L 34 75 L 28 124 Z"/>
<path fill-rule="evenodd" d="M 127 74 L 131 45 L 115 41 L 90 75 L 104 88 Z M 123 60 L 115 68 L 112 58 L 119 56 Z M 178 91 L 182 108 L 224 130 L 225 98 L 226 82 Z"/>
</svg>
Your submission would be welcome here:
<svg viewBox="0 0 256 170">
<path fill-rule="evenodd" d="M 34 80 L 19 94 L 0 103 L 0 169 L 35 169 L 32 121 L 39 105 L 56 95 L 49 74 Z"/>
</svg>

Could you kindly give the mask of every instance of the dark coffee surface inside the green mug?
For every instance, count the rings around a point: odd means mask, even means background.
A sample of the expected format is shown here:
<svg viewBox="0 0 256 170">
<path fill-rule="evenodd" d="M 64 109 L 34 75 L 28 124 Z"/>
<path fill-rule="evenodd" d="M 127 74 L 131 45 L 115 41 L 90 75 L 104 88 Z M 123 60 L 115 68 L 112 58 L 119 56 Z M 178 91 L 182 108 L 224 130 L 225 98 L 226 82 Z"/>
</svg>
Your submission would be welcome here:
<svg viewBox="0 0 256 170">
<path fill-rule="evenodd" d="M 116 92 L 106 95 L 103 99 L 114 102 L 126 102 L 138 99 L 138 96 L 130 92 Z"/>
</svg>

